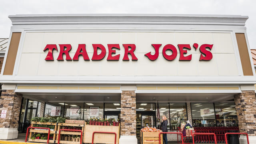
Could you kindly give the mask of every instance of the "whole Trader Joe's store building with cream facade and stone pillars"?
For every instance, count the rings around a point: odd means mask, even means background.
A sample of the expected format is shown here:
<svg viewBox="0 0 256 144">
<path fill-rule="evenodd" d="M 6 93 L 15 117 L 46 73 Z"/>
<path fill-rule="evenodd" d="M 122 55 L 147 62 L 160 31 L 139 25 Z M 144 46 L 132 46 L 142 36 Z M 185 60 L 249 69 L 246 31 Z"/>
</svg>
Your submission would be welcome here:
<svg viewBox="0 0 256 144">
<path fill-rule="evenodd" d="M 139 130 L 238 126 L 256 141 L 255 70 L 247 16 L 13 15 L 0 76 L 0 139 L 34 116 L 120 119 L 120 144 Z M 72 108 L 77 114 L 71 114 Z M 171 137 L 169 138 L 171 139 Z M 246 142 L 240 136 L 240 142 Z"/>
</svg>

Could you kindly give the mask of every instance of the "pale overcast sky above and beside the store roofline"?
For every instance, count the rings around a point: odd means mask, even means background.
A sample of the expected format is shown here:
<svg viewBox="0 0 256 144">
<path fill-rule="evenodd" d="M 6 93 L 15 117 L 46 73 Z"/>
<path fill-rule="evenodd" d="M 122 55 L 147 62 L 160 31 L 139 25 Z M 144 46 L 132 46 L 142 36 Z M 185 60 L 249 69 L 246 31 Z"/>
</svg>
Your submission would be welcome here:
<svg viewBox="0 0 256 144">
<path fill-rule="evenodd" d="M 238 14 L 246 22 L 251 49 L 256 49 L 256 0 L 2 0 L 0 38 L 8 38 L 13 14 Z"/>
</svg>

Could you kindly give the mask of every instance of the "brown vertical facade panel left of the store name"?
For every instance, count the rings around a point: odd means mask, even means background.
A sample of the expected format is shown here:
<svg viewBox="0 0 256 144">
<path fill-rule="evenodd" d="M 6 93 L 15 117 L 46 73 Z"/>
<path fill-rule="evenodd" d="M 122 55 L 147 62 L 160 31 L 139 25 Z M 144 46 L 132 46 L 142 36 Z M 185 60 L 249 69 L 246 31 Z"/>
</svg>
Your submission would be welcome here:
<svg viewBox="0 0 256 144">
<path fill-rule="evenodd" d="M 21 32 L 13 32 L 12 38 L 4 66 L 4 75 L 12 75 L 15 65 L 16 55 L 20 43 Z"/>
</svg>

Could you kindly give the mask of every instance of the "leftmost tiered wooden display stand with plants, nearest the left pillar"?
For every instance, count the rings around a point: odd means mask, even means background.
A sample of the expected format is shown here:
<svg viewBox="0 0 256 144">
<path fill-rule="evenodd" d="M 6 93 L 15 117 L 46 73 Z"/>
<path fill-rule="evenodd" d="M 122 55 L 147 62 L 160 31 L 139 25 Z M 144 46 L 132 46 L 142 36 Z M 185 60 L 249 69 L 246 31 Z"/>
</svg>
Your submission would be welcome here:
<svg viewBox="0 0 256 144">
<path fill-rule="evenodd" d="M 42 125 L 53 125 L 54 126 L 54 130 L 50 131 L 50 134 L 53 134 L 53 140 L 49 140 L 49 143 L 55 143 L 55 139 L 56 139 L 56 130 L 57 130 L 57 124 L 53 123 L 53 122 L 31 122 L 31 126 L 33 127 L 34 124 L 42 124 Z M 48 130 L 34 130 L 34 129 L 30 129 L 29 131 L 29 137 L 28 137 L 28 141 L 29 142 L 45 142 L 47 143 L 47 140 L 41 140 L 41 139 L 31 139 L 32 133 L 36 132 L 36 133 L 45 133 L 46 135 L 48 134 Z"/>
</svg>

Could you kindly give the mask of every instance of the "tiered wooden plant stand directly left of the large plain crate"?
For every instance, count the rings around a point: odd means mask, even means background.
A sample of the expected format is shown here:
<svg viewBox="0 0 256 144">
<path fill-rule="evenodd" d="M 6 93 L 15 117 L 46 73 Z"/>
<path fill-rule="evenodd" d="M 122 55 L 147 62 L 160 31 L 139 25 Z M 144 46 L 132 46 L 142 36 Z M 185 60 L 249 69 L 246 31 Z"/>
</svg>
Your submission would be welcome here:
<svg viewBox="0 0 256 144">
<path fill-rule="evenodd" d="M 59 130 L 62 129 L 62 126 L 76 126 L 76 127 L 82 127 L 82 132 L 84 132 L 84 124 L 68 124 L 68 123 L 58 123 L 57 124 L 58 129 L 56 132 L 56 143 L 58 143 L 58 135 L 59 135 Z M 61 131 L 60 134 L 69 134 L 69 135 L 81 135 L 81 132 L 67 132 L 67 131 Z M 83 134 L 84 135 L 84 134 Z M 80 139 L 81 141 L 83 140 L 83 137 Z M 60 140 L 60 144 L 80 144 L 80 142 L 72 142 L 72 141 L 65 141 L 65 140 Z"/>
</svg>

